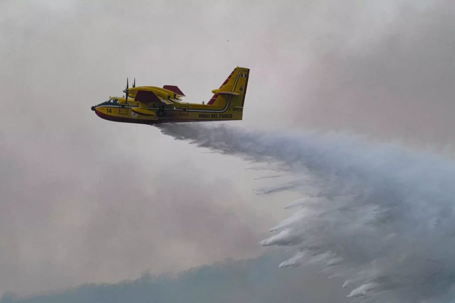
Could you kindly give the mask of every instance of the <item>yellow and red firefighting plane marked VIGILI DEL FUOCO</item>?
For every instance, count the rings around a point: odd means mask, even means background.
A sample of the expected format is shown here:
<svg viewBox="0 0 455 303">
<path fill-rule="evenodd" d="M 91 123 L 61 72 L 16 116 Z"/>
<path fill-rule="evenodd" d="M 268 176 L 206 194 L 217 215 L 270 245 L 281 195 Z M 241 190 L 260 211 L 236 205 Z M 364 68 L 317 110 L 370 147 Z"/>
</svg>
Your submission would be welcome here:
<svg viewBox="0 0 455 303">
<path fill-rule="evenodd" d="M 243 105 L 250 70 L 236 67 L 207 104 L 185 103 L 185 94 L 174 85 L 135 87 L 123 90 L 125 97 L 110 97 L 92 107 L 106 120 L 127 123 L 157 124 L 168 122 L 242 120 Z"/>
</svg>

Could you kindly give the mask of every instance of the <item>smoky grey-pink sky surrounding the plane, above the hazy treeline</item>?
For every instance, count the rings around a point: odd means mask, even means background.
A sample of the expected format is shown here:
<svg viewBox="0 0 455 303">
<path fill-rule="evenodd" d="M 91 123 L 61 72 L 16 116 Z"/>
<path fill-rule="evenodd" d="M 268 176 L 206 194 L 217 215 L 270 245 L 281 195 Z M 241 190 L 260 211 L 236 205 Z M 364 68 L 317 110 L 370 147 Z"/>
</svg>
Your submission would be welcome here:
<svg viewBox="0 0 455 303">
<path fill-rule="evenodd" d="M 271 171 L 90 106 L 138 85 L 207 101 L 251 69 L 245 128 L 455 143 L 449 1 L 3 1 L 0 292 L 249 258 L 292 193 Z M 268 249 L 268 248 L 267 248 Z"/>
</svg>

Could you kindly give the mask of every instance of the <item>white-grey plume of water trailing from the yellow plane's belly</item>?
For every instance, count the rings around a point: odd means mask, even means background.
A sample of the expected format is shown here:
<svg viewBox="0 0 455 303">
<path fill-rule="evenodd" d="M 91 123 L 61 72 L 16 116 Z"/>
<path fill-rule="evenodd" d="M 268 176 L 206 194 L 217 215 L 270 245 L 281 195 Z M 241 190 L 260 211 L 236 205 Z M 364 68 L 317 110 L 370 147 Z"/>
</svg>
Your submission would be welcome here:
<svg viewBox="0 0 455 303">
<path fill-rule="evenodd" d="M 302 198 L 262 245 L 287 246 L 281 267 L 324 265 L 362 301 L 447 302 L 455 297 L 455 163 L 336 133 L 282 134 L 200 124 L 164 134 L 251 161 L 278 162 L 298 178 L 277 183 Z M 274 187 L 263 189 L 273 192 Z"/>
</svg>

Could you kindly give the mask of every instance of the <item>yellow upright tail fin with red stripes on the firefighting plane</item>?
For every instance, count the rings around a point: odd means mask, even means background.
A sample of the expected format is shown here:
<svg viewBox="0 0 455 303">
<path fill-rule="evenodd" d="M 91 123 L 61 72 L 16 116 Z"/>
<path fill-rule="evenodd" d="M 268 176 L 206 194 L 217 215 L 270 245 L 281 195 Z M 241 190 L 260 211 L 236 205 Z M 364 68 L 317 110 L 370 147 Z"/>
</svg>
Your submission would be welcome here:
<svg viewBox="0 0 455 303">
<path fill-rule="evenodd" d="M 207 104 L 222 106 L 226 103 L 226 98 L 230 98 L 232 105 L 243 107 L 249 74 L 250 69 L 236 67 L 218 89 L 212 90 L 214 95 Z"/>
</svg>

